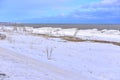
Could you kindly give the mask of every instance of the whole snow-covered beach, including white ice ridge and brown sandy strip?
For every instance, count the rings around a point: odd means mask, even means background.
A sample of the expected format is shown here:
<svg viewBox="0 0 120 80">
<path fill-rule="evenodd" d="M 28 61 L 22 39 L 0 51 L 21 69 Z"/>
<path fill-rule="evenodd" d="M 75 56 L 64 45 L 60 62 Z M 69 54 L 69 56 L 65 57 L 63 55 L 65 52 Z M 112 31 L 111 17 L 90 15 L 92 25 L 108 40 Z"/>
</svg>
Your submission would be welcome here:
<svg viewBox="0 0 120 80">
<path fill-rule="evenodd" d="M 0 27 L 0 34 L 0 79 L 120 80 L 119 30 Z"/>
</svg>

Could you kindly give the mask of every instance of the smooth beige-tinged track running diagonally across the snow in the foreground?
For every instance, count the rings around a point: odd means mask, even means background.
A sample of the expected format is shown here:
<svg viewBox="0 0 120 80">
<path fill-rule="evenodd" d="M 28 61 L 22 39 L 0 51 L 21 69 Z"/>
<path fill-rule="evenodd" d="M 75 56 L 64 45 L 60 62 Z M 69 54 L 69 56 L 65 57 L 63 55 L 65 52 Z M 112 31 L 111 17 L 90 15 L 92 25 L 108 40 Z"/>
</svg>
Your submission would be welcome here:
<svg viewBox="0 0 120 80">
<path fill-rule="evenodd" d="M 10 58 L 22 64 L 26 64 L 28 67 L 32 67 L 41 73 L 47 73 L 53 78 L 52 80 L 89 80 L 89 78 L 80 75 L 80 73 L 67 71 L 4 48 L 0 48 L 0 56 Z"/>
</svg>

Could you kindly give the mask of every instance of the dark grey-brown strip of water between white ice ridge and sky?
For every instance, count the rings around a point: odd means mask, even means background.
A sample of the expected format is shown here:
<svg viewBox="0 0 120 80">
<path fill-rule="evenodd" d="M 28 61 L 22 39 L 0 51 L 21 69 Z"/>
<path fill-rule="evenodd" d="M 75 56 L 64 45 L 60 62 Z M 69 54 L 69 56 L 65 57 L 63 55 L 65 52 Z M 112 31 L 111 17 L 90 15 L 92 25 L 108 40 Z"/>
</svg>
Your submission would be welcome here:
<svg viewBox="0 0 120 80">
<path fill-rule="evenodd" d="M 0 22 L 0 26 L 18 26 L 18 27 L 53 27 L 53 28 L 78 28 L 78 29 L 115 29 L 120 30 L 120 24 L 32 24 L 32 23 L 9 23 Z"/>
</svg>

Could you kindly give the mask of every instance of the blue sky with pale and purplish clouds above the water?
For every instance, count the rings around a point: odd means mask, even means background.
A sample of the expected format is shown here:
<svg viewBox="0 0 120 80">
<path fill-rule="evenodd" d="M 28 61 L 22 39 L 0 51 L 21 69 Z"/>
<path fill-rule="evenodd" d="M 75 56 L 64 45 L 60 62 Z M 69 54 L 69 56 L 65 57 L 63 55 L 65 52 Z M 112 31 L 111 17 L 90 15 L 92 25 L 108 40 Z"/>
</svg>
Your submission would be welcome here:
<svg viewBox="0 0 120 80">
<path fill-rule="evenodd" d="M 120 24 L 120 0 L 0 0 L 0 22 Z"/>
</svg>

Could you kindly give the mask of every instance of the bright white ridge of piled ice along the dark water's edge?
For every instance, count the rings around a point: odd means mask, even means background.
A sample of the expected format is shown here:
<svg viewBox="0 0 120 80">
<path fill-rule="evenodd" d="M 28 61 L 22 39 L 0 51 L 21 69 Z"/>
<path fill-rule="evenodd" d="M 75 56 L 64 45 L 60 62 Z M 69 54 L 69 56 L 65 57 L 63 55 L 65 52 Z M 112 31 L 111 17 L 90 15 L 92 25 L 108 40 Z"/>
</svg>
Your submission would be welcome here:
<svg viewBox="0 0 120 80">
<path fill-rule="evenodd" d="M 112 41 L 120 42 L 120 31 L 119 30 L 97 30 L 97 29 L 87 29 L 78 30 L 77 28 L 52 28 L 52 27 L 0 27 L 0 31 L 14 31 L 14 32 L 29 32 L 32 34 L 42 34 L 54 37 L 60 36 L 70 36 L 80 38 L 82 40 L 102 40 L 102 41 Z"/>
</svg>

